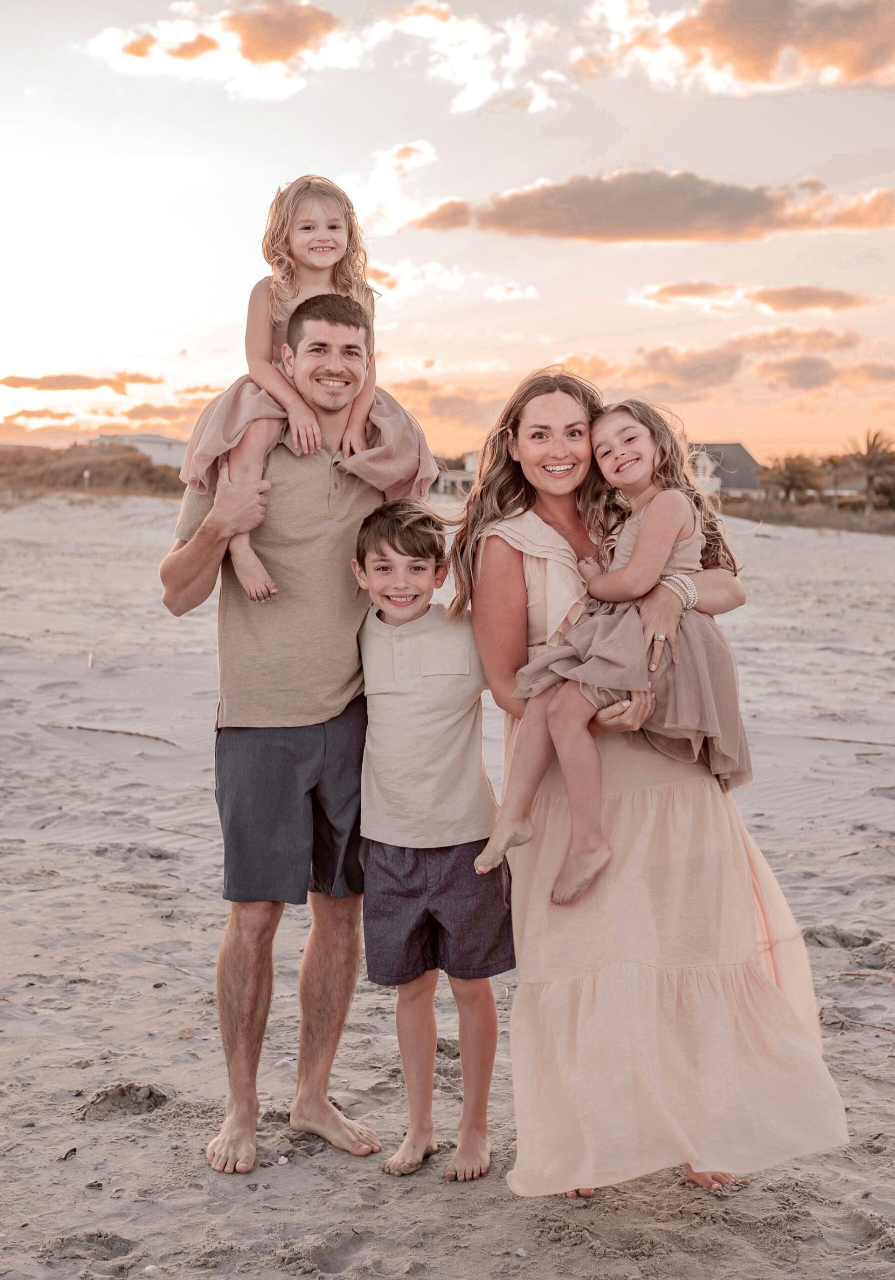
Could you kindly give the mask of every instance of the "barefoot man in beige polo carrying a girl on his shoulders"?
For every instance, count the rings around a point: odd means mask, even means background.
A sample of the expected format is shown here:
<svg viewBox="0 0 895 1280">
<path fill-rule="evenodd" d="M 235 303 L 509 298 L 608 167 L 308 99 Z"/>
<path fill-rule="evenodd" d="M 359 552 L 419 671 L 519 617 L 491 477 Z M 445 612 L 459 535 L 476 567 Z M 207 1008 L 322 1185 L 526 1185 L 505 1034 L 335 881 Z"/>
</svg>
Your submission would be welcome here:
<svg viewBox="0 0 895 1280">
<path fill-rule="evenodd" d="M 355 1156 L 380 1151 L 372 1129 L 327 1098 L 335 1051 L 361 960 L 361 764 L 367 724 L 357 632 L 368 600 L 352 575 L 364 516 L 382 494 L 335 462 L 372 353 L 372 321 L 352 298 L 321 294 L 290 317 L 286 372 L 320 424 L 322 447 L 288 442 L 265 479 L 230 483 L 214 500 L 187 493 L 176 541 L 161 564 L 164 603 L 180 616 L 217 581 L 220 703 L 215 771 L 230 919 L 217 960 L 217 1010 L 228 1064 L 226 1116 L 207 1147 L 219 1172 L 256 1157 L 256 1075 L 274 983 L 274 934 L 285 902 L 311 902 L 299 975 L 302 1032 L 289 1123 Z M 430 460 L 424 442 L 419 449 Z M 412 466 L 416 466 L 413 461 Z M 279 586 L 253 603 L 226 557 L 252 543 Z"/>
</svg>

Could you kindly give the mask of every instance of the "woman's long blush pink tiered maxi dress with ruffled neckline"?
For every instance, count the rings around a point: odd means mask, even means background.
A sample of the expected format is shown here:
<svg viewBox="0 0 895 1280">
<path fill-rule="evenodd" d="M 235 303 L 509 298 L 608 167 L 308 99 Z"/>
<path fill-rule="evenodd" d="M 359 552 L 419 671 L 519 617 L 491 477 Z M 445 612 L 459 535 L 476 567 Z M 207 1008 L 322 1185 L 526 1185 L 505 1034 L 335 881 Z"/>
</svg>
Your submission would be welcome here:
<svg viewBox="0 0 895 1280">
<path fill-rule="evenodd" d="M 490 535 L 523 553 L 531 660 L 584 608 L 575 557 L 533 512 Z M 735 803 L 703 763 L 642 733 L 601 737 L 600 754 L 614 856 L 592 888 L 550 901 L 569 841 L 555 762 L 534 838 L 509 859 L 510 1188 L 547 1196 L 684 1162 L 745 1174 L 846 1143 L 802 934 Z"/>
</svg>

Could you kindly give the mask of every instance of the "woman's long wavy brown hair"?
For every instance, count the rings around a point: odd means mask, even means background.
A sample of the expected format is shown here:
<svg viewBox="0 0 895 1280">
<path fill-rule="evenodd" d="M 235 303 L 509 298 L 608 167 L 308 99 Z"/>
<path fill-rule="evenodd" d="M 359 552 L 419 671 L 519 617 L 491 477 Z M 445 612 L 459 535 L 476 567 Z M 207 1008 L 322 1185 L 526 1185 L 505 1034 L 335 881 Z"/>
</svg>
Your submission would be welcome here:
<svg viewBox="0 0 895 1280">
<path fill-rule="evenodd" d="M 537 492 L 523 475 L 520 463 L 513 461 L 510 440 L 518 434 L 525 404 L 538 396 L 550 396 L 552 392 L 565 392 L 578 401 L 591 425 L 600 416 L 602 408 L 600 392 L 577 374 L 564 369 L 538 369 L 519 383 L 485 439 L 476 483 L 458 520 L 459 527 L 450 552 L 456 594 L 447 613 L 453 618 L 465 613 L 472 598 L 476 557 L 486 531 L 499 520 L 531 511 L 534 506 Z M 601 488 L 605 488 L 603 480 L 595 463 L 575 494 L 580 521 L 592 535 L 602 531 Z"/>
</svg>

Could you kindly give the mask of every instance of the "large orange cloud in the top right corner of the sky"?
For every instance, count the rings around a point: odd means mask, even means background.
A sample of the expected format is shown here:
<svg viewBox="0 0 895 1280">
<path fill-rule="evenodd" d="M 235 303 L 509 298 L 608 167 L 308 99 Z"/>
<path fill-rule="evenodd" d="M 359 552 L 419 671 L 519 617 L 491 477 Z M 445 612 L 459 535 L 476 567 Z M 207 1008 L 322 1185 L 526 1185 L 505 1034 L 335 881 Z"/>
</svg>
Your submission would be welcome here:
<svg viewBox="0 0 895 1280">
<path fill-rule="evenodd" d="M 688 69 L 726 72 L 744 84 L 812 77 L 825 84 L 895 82 L 891 0 L 702 0 L 665 29 L 664 40 Z"/>
</svg>

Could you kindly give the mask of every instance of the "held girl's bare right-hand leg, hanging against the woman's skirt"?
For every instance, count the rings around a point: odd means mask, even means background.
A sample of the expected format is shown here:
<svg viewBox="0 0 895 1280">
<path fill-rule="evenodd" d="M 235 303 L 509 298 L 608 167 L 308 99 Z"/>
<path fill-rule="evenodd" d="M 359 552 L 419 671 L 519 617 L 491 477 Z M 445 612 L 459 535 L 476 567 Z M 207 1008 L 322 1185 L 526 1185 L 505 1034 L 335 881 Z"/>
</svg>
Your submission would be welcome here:
<svg viewBox="0 0 895 1280">
<path fill-rule="evenodd" d="M 547 723 L 569 796 L 569 851 L 550 895 L 564 906 L 577 899 L 612 856 L 602 832 L 602 764 L 588 731 L 596 714 L 574 681 L 566 681 L 547 712 Z"/>
</svg>

